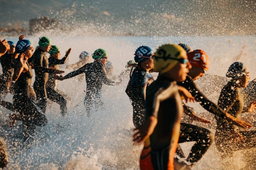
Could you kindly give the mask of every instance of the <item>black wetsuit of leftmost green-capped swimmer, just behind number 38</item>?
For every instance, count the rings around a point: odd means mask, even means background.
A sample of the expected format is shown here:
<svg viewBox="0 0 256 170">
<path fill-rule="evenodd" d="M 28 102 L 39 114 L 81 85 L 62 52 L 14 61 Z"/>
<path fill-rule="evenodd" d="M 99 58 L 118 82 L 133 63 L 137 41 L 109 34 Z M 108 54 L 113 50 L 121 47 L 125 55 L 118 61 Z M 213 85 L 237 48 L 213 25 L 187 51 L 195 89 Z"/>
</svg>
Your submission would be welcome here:
<svg viewBox="0 0 256 170">
<path fill-rule="evenodd" d="M 36 74 L 34 90 L 36 92 L 37 105 L 44 113 L 47 101 L 46 84 L 48 82 L 48 73 L 55 72 L 55 70 L 49 69 L 49 61 L 45 54 L 46 52 L 37 48 L 32 56 Z"/>
</svg>

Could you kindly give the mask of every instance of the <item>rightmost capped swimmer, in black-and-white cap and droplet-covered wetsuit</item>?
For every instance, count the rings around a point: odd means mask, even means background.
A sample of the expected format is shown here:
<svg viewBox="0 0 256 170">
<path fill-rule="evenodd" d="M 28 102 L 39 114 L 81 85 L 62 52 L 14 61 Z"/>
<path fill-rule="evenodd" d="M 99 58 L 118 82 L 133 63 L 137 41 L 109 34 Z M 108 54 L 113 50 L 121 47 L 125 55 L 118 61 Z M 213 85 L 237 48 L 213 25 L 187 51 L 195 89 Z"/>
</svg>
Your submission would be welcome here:
<svg viewBox="0 0 256 170">
<path fill-rule="evenodd" d="M 243 96 L 240 88 L 245 88 L 249 80 L 249 71 L 241 62 L 230 65 L 226 77 L 230 79 L 220 93 L 218 106 L 230 115 L 240 118 L 243 111 Z M 220 121 L 216 115 L 217 128 L 215 144 L 222 156 L 232 156 L 233 151 L 256 147 L 256 131 L 241 131 L 230 122 Z"/>
</svg>

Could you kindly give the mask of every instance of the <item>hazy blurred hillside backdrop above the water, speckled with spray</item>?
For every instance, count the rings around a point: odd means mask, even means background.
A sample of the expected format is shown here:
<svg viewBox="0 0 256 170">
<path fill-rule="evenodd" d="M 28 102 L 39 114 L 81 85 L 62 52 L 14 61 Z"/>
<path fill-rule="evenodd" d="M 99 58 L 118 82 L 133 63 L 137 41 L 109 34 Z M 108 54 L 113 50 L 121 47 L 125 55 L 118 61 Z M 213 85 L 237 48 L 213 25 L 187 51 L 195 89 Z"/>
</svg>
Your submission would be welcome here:
<svg viewBox="0 0 256 170">
<path fill-rule="evenodd" d="M 47 16 L 86 35 L 255 35 L 256 3 L 210 0 L 0 0 L 0 27 Z"/>
</svg>

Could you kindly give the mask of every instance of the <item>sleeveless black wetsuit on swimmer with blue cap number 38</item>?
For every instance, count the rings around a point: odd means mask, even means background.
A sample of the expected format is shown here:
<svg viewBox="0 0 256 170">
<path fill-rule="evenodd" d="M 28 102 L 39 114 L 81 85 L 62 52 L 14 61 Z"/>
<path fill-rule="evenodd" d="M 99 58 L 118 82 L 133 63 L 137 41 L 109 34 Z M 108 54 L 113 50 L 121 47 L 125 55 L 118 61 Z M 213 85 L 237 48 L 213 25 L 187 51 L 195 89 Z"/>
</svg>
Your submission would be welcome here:
<svg viewBox="0 0 256 170">
<path fill-rule="evenodd" d="M 19 59 L 16 59 L 17 62 Z M 28 65 L 28 63 L 26 63 Z M 46 116 L 40 109 L 30 100 L 30 85 L 32 78 L 32 71 L 28 65 L 29 70 L 21 73 L 18 80 L 15 82 L 15 92 L 13 95 L 13 106 L 20 112 L 17 115 L 19 121 L 24 122 L 27 126 L 27 132 L 24 136 L 24 141 L 29 136 L 33 136 L 36 126 L 45 126 L 47 124 Z M 32 138 L 30 138 L 32 140 Z"/>
</svg>

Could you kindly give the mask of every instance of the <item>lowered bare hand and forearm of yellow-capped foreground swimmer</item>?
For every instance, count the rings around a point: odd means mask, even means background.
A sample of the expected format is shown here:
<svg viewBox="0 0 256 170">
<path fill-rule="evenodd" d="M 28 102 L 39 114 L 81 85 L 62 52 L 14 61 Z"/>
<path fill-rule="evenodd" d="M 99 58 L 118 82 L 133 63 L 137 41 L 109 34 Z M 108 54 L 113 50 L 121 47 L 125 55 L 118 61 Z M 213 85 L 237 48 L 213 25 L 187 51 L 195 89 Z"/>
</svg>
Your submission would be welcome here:
<svg viewBox="0 0 256 170">
<path fill-rule="evenodd" d="M 133 142 L 141 143 L 146 138 L 148 138 L 154 131 L 157 124 L 157 118 L 155 116 L 150 116 L 146 119 L 144 124 L 142 124 L 139 128 L 135 128 L 133 130 Z"/>
</svg>

